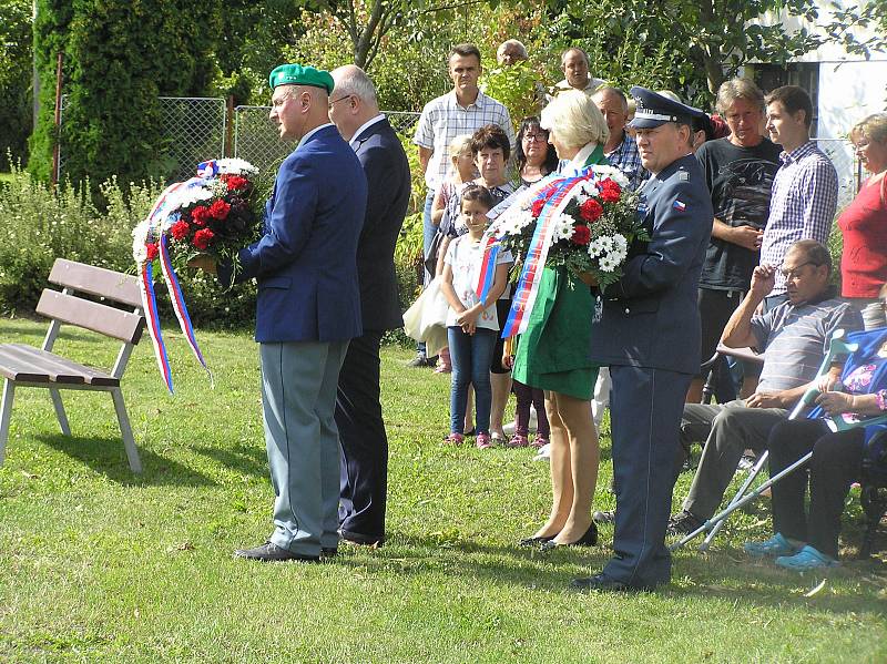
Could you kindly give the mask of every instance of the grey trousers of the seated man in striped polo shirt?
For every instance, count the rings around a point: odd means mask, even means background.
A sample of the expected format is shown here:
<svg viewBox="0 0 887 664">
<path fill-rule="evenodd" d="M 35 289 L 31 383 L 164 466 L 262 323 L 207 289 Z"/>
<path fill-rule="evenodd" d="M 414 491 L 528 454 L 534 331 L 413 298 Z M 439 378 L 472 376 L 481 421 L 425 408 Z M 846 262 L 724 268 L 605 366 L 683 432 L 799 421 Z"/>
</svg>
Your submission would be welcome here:
<svg viewBox="0 0 887 664">
<path fill-rule="evenodd" d="M 727 403 L 686 403 L 681 420 L 681 441 L 705 441 L 700 466 L 683 509 L 710 519 L 724 499 L 742 453 L 767 447 L 771 429 L 788 416 L 783 408 L 746 408 L 737 399 Z"/>
</svg>

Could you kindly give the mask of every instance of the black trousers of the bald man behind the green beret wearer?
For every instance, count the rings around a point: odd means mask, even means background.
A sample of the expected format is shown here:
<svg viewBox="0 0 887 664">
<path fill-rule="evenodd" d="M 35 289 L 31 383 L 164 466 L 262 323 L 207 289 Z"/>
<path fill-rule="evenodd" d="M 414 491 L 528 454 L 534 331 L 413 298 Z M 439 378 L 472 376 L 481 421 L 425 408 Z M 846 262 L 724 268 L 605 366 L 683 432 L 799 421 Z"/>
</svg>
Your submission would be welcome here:
<svg viewBox="0 0 887 664">
<path fill-rule="evenodd" d="M 336 426 L 341 442 L 339 525 L 369 539 L 385 539 L 388 437 L 379 402 L 380 330 L 351 339 L 339 372 Z"/>
</svg>

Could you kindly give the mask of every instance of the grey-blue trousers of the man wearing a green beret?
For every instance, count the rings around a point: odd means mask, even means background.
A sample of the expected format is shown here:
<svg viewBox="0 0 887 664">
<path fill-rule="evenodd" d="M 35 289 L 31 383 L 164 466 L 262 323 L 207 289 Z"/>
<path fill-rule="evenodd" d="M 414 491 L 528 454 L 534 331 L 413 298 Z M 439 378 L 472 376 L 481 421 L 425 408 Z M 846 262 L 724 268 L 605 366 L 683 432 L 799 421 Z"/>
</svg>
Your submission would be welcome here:
<svg viewBox="0 0 887 664">
<path fill-rule="evenodd" d="M 338 543 L 336 386 L 348 341 L 259 344 L 274 533 L 302 555 Z"/>
</svg>

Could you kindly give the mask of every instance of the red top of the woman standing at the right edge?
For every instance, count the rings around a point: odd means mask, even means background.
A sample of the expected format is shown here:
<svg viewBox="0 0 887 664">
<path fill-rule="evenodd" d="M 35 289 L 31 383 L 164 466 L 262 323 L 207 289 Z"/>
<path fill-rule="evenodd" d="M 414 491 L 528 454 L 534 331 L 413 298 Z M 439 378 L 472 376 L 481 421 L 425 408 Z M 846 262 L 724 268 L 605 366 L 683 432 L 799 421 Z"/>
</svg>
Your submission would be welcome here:
<svg viewBox="0 0 887 664">
<path fill-rule="evenodd" d="M 887 182 L 863 186 L 838 217 L 844 235 L 840 283 L 844 297 L 878 297 L 887 282 Z"/>
</svg>

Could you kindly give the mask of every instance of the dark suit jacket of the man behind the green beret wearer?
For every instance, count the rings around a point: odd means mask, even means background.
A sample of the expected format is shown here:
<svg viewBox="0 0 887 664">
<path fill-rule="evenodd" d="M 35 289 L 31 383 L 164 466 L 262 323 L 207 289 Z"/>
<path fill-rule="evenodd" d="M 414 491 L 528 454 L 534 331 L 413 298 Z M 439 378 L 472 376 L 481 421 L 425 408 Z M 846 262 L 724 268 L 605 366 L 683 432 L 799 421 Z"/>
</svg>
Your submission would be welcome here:
<svg viewBox="0 0 887 664">
<path fill-rule="evenodd" d="M 409 161 L 388 120 L 365 129 L 354 143 L 369 191 L 357 247 L 364 329 L 394 329 L 404 325 L 395 245 L 409 204 Z"/>
</svg>

